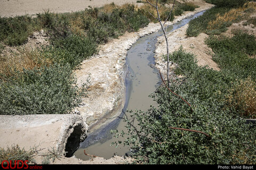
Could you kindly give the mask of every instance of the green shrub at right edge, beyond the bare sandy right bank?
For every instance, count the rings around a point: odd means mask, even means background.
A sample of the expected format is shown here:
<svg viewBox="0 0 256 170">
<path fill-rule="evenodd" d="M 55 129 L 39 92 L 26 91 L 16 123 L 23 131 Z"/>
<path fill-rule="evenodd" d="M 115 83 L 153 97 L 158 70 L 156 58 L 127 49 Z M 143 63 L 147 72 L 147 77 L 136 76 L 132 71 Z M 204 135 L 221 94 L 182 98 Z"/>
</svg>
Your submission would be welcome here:
<svg viewBox="0 0 256 170">
<path fill-rule="evenodd" d="M 232 71 L 239 78 L 251 76 L 252 80 L 256 80 L 256 60 L 249 57 L 256 52 L 253 35 L 241 33 L 232 38 L 210 36 L 205 43 L 215 53 L 213 60 L 218 63 L 220 69 Z"/>
</svg>

